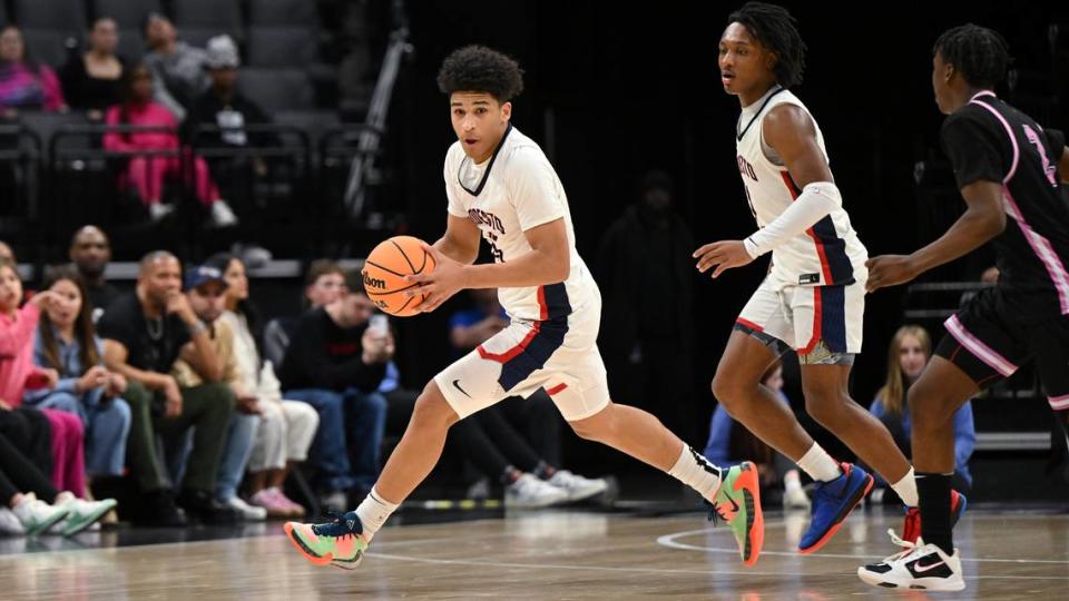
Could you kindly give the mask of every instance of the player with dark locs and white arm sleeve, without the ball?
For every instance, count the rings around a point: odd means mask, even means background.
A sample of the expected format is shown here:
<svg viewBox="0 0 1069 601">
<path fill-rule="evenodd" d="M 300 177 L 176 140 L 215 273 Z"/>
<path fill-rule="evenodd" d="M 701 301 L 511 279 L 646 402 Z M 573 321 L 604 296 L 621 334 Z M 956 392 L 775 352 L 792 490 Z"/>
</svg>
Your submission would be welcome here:
<svg viewBox="0 0 1069 601">
<path fill-rule="evenodd" d="M 798 544 L 810 553 L 832 538 L 873 479 L 833 460 L 761 385 L 778 355 L 797 353 L 810 415 L 891 482 L 908 508 L 918 504 L 916 485 L 887 430 L 849 395 L 861 352 L 867 254 L 843 209 L 821 130 L 788 90 L 801 81 L 805 45 L 781 7 L 748 2 L 728 21 L 719 69 L 724 89 L 743 107 L 737 162 L 759 229 L 745 240 L 707 244 L 695 257 L 700 272 L 715 267 L 714 278 L 769 252 L 772 266 L 736 321 L 713 392 L 816 482 L 812 521 Z M 905 530 L 915 530 L 915 509 L 909 514 L 914 525 Z"/>
</svg>

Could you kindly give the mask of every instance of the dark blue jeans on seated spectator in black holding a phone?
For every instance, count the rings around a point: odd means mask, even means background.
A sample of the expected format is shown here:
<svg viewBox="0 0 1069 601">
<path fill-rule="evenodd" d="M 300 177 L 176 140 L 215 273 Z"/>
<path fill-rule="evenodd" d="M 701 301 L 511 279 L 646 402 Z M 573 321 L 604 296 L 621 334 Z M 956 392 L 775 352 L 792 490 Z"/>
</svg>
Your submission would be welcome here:
<svg viewBox="0 0 1069 601">
<path fill-rule="evenodd" d="M 386 428 L 386 400 L 356 388 L 286 391 L 283 398 L 302 401 L 320 414 L 308 463 L 322 472 L 321 484 L 344 491 L 371 490 L 379 479 L 379 449 Z"/>
</svg>

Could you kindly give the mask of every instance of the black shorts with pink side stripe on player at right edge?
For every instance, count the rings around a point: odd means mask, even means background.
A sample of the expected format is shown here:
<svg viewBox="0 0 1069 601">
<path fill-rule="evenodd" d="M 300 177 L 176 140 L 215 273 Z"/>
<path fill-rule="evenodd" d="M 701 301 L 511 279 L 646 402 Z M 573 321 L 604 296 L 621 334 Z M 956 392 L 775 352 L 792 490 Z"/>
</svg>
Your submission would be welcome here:
<svg viewBox="0 0 1069 601">
<path fill-rule="evenodd" d="M 1051 408 L 1069 410 L 1069 315 L 1023 318 L 1007 308 L 1002 294 L 999 287 L 981 290 L 947 319 L 935 354 L 981 388 L 1034 361 Z"/>
</svg>

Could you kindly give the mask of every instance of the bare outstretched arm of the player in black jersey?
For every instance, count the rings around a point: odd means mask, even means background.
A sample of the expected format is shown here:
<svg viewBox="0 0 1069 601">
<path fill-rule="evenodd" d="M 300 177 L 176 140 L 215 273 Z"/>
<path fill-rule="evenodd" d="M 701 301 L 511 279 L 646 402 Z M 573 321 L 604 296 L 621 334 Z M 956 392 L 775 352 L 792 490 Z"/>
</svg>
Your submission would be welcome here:
<svg viewBox="0 0 1069 601">
<path fill-rule="evenodd" d="M 869 267 L 869 292 L 904 284 L 924 272 L 962 257 L 998 236 L 1006 228 L 1002 208 L 1002 184 L 978 180 L 961 188 L 965 199 L 964 215 L 945 234 L 912 255 L 873 257 Z"/>
</svg>

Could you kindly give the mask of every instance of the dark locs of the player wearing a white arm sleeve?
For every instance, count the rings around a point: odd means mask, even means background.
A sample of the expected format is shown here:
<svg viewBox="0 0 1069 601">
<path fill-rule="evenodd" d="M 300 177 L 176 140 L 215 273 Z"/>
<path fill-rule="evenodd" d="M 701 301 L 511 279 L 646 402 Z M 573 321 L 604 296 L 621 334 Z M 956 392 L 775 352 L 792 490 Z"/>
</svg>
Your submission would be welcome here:
<svg viewBox="0 0 1069 601">
<path fill-rule="evenodd" d="M 742 23 L 762 46 L 776 55 L 773 71 L 784 88 L 802 82 L 805 70 L 805 42 L 798 33 L 797 21 L 787 9 L 765 2 L 746 2 L 727 18 L 728 23 Z"/>
</svg>

